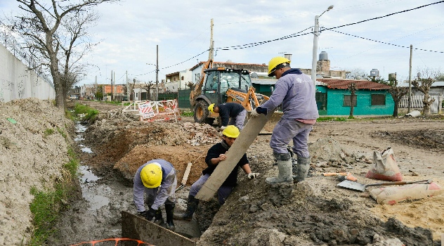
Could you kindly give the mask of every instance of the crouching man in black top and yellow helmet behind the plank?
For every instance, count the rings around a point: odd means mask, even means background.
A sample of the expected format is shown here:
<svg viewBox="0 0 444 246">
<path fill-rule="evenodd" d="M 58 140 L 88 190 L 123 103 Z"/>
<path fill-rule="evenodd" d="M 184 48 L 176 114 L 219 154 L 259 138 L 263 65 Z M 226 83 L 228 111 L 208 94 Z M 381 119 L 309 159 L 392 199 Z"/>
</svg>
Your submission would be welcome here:
<svg viewBox="0 0 444 246">
<path fill-rule="evenodd" d="M 216 169 L 219 162 L 226 160 L 225 154 L 228 149 L 230 149 L 231 145 L 233 145 L 237 136 L 239 136 L 239 129 L 237 129 L 235 126 L 228 126 L 222 131 L 222 134 L 223 140 L 221 143 L 216 143 L 208 150 L 207 157 L 205 157 L 205 162 L 208 164 L 207 169 L 202 171 L 202 176 L 200 176 L 200 178 L 191 186 L 185 213 L 174 214 L 174 219 L 184 219 L 188 221 L 192 219 L 192 214 L 194 214 L 197 209 L 197 205 L 199 205 L 199 200 L 195 198 L 195 195 L 199 192 L 202 186 L 204 186 L 204 183 L 207 181 L 207 179 L 209 179 L 209 176 L 213 173 L 214 169 Z M 248 179 L 254 179 L 259 176 L 258 173 L 252 173 L 252 170 L 249 167 L 247 155 L 244 154 L 240 161 L 237 162 L 237 167 L 231 171 L 226 181 L 222 183 L 221 188 L 217 190 L 219 205 L 223 205 L 223 203 L 225 203 L 228 195 L 230 195 L 231 191 L 236 186 L 237 170 L 239 167 L 244 169 L 244 171 L 247 173 Z"/>
</svg>

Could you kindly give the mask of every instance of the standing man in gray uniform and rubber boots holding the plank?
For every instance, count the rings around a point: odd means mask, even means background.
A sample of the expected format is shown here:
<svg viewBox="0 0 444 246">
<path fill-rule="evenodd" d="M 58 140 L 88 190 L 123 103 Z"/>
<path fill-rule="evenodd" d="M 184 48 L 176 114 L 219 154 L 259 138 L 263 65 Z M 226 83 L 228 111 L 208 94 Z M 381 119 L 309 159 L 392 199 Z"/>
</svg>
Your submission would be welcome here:
<svg viewBox="0 0 444 246">
<path fill-rule="evenodd" d="M 282 56 L 275 57 L 268 63 L 268 76 L 275 76 L 278 82 L 270 96 L 270 100 L 252 110 L 252 117 L 268 112 L 282 104 L 284 114 L 273 129 L 270 147 L 278 161 L 279 174 L 267 178 L 267 183 L 290 183 L 303 181 L 310 168 L 308 153 L 308 134 L 318 119 L 318 107 L 315 100 L 313 81 L 301 70 L 290 67 L 290 60 Z M 297 164 L 287 150 L 289 141 L 293 140 L 293 153 Z"/>
</svg>

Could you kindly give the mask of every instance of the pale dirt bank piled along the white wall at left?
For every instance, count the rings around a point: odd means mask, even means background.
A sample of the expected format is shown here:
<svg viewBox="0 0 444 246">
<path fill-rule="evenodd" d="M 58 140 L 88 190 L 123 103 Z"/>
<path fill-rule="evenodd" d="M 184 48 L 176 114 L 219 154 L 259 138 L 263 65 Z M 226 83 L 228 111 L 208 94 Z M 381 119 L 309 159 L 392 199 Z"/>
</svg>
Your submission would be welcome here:
<svg viewBox="0 0 444 246">
<path fill-rule="evenodd" d="M 0 245 L 27 243 L 31 188 L 52 190 L 63 180 L 72 128 L 64 113 L 36 98 L 0 103 Z"/>
</svg>

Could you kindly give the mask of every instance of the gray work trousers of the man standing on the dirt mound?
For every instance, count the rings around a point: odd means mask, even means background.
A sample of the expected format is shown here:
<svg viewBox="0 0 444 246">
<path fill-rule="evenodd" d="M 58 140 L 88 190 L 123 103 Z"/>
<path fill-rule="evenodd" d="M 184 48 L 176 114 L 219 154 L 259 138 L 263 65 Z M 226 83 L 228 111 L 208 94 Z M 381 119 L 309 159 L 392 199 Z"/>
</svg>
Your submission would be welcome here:
<svg viewBox="0 0 444 246">
<path fill-rule="evenodd" d="M 308 134 L 313 124 L 303 124 L 294 119 L 280 119 L 273 129 L 270 147 L 273 153 L 288 153 L 287 145 L 293 139 L 293 153 L 301 157 L 310 157 L 308 153 Z"/>
</svg>

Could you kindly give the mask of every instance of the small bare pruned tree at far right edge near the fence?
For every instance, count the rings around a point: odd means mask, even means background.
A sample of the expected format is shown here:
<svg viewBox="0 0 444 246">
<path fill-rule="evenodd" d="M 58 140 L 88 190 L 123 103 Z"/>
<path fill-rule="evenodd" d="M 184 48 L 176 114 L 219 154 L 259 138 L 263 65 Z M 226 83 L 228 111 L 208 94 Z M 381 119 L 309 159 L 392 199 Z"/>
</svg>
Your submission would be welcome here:
<svg viewBox="0 0 444 246">
<path fill-rule="evenodd" d="M 431 68 L 424 68 L 421 72 L 422 77 L 418 77 L 412 81 L 412 85 L 424 93 L 424 99 L 422 100 L 423 108 L 422 115 L 429 115 L 430 113 L 430 105 L 435 101 L 435 99 L 430 99 L 429 91 L 430 86 L 433 82 L 436 82 L 436 79 L 440 77 L 441 73 L 439 70 L 434 70 Z"/>
</svg>

